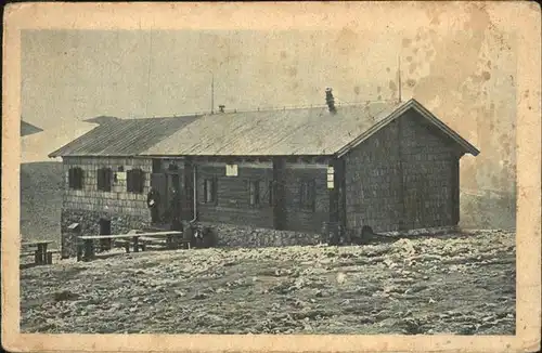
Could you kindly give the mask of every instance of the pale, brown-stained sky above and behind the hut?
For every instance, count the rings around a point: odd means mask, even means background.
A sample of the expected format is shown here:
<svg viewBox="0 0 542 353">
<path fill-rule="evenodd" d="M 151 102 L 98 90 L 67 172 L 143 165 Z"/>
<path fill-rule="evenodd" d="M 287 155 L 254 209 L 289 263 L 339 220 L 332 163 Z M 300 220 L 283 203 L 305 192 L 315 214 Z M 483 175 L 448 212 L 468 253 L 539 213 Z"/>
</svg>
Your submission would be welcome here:
<svg viewBox="0 0 542 353">
<path fill-rule="evenodd" d="M 24 30 L 22 116 L 44 131 L 23 139 L 23 161 L 47 160 L 92 117 L 209 112 L 212 77 L 215 109 L 244 110 L 322 105 L 326 87 L 339 103 L 397 100 L 400 65 L 402 99 L 481 151 L 462 160 L 462 192 L 496 197 L 502 218 L 515 198 L 516 38 L 490 6 L 405 9 L 411 21 L 379 9 L 296 30 Z M 463 207 L 468 218 L 488 206 Z"/>
</svg>

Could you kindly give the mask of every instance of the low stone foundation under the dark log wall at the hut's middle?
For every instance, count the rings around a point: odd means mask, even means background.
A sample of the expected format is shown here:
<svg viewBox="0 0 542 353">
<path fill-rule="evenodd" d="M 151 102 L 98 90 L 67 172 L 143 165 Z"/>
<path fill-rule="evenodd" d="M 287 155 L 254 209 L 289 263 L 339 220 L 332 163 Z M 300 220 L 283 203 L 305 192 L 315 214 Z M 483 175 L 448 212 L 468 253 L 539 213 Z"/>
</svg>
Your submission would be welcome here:
<svg viewBox="0 0 542 353">
<path fill-rule="evenodd" d="M 219 247 L 281 247 L 326 243 L 321 234 L 202 222 L 215 230 Z"/>
</svg>

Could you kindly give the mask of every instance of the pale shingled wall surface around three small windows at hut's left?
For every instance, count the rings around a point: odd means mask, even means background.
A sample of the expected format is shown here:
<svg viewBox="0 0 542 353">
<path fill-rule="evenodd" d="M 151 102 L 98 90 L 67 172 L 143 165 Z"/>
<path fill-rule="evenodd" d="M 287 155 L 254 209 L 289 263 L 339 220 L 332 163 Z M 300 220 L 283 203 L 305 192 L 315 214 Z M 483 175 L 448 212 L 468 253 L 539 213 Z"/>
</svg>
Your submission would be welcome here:
<svg viewBox="0 0 542 353">
<path fill-rule="evenodd" d="M 63 209 L 105 211 L 130 215 L 149 215 L 146 195 L 151 185 L 152 160 L 147 158 L 114 158 L 114 157 L 68 157 L 63 161 L 65 189 Z M 82 189 L 68 187 L 68 170 L 79 167 L 83 170 Z M 98 189 L 98 169 L 111 168 L 116 180 L 112 182 L 111 192 Z M 122 167 L 124 172 L 118 168 Z M 126 185 L 126 171 L 139 168 L 144 171 L 143 193 L 129 193 Z"/>
</svg>

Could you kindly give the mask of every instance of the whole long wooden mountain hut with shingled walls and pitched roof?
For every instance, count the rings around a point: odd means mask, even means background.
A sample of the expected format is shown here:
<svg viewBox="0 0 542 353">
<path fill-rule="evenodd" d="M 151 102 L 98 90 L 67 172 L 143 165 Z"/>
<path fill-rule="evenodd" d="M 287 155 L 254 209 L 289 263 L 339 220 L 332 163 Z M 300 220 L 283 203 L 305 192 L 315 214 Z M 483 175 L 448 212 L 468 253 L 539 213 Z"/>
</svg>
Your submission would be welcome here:
<svg viewBox="0 0 542 353">
<path fill-rule="evenodd" d="M 151 186 L 160 214 L 175 186 L 183 220 L 214 224 L 305 234 L 457 224 L 459 161 L 479 153 L 472 144 L 415 100 L 330 101 L 103 125 L 51 154 L 65 165 L 63 232 L 149 226 Z"/>
</svg>

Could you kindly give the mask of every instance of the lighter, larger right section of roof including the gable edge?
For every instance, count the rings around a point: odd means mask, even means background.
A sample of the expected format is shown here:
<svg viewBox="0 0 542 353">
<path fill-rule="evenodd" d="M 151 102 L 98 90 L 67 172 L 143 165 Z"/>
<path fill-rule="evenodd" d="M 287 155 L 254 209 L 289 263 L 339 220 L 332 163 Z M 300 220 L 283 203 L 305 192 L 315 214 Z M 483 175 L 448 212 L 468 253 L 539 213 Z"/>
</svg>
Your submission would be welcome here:
<svg viewBox="0 0 542 353">
<path fill-rule="evenodd" d="M 327 107 L 205 115 L 141 155 L 288 156 L 344 155 L 414 108 L 463 146 L 479 152 L 415 100 Z"/>
</svg>

